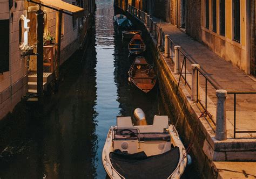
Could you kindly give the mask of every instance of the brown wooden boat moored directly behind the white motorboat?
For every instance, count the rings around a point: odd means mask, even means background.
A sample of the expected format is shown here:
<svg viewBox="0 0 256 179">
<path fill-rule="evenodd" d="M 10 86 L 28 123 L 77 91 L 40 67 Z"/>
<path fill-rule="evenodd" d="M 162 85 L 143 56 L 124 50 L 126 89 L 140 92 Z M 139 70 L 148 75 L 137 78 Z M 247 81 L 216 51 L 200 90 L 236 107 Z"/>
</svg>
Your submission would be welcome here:
<svg viewBox="0 0 256 179">
<path fill-rule="evenodd" d="M 157 81 L 152 65 L 149 65 L 143 56 L 135 58 L 128 74 L 129 82 L 145 93 L 150 92 Z"/>
</svg>

